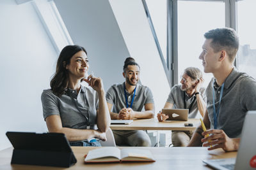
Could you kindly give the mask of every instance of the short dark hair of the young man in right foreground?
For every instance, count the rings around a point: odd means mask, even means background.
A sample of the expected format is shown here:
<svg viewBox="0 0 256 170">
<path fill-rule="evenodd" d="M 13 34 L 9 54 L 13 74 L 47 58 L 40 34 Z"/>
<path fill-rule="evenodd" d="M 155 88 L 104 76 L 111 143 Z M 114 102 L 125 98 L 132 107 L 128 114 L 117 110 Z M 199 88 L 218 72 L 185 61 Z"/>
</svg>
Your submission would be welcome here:
<svg viewBox="0 0 256 170">
<path fill-rule="evenodd" d="M 234 62 L 239 48 L 239 38 L 236 31 L 231 28 L 218 28 L 205 32 L 206 39 L 212 39 L 211 47 L 214 52 L 225 50 L 230 61 Z"/>
</svg>

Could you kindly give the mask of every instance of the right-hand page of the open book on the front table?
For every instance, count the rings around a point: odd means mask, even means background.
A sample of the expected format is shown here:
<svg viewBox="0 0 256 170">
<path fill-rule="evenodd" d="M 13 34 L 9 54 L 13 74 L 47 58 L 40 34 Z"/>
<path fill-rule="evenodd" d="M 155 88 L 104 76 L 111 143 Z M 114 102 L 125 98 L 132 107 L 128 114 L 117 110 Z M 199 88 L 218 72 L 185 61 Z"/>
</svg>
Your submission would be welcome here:
<svg viewBox="0 0 256 170">
<path fill-rule="evenodd" d="M 149 150 L 124 148 L 121 150 L 121 159 L 141 161 L 154 160 L 154 157 Z"/>
</svg>

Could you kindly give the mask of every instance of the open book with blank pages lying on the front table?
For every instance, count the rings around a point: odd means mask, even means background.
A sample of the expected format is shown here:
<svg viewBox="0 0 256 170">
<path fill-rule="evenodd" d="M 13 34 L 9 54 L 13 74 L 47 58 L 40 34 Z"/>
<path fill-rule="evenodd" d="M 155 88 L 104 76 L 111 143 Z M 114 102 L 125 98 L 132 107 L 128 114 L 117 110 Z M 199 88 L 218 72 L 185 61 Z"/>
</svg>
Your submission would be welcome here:
<svg viewBox="0 0 256 170">
<path fill-rule="evenodd" d="M 104 147 L 90 150 L 84 159 L 86 163 L 97 162 L 155 162 L 149 150 L 116 147 Z"/>
</svg>

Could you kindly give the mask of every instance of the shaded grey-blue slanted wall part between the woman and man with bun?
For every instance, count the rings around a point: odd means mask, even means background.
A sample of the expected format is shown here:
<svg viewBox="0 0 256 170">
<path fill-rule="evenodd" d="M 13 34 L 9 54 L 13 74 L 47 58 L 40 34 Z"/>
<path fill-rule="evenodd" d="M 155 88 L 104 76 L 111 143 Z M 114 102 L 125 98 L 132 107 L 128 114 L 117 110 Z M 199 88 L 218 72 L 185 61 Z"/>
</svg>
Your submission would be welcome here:
<svg viewBox="0 0 256 170">
<path fill-rule="evenodd" d="M 89 71 L 100 76 L 104 89 L 122 83 L 122 67 L 130 54 L 111 6 L 106 0 L 54 0 L 74 44 L 84 46 Z"/>
</svg>

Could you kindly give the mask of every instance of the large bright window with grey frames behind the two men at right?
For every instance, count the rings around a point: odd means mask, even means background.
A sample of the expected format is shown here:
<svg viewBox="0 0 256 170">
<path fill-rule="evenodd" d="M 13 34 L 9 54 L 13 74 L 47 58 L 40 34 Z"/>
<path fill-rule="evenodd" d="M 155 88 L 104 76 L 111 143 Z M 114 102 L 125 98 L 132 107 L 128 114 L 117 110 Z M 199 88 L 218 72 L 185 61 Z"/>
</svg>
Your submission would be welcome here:
<svg viewBox="0 0 256 170">
<path fill-rule="evenodd" d="M 198 56 L 202 52 L 204 33 L 217 27 L 236 29 L 240 39 L 236 67 L 256 78 L 253 69 L 256 65 L 256 24 L 253 22 L 256 0 L 161 0 L 159 4 L 154 0 L 142 1 L 147 1 L 152 14 L 163 57 L 168 61 L 163 64 L 165 68 L 168 65 L 166 76 L 171 86 L 179 83 L 179 76 L 186 67 L 194 66 L 203 71 Z M 168 43 L 164 37 L 169 38 Z M 212 74 L 204 73 L 204 78 L 206 87 Z"/>
</svg>

